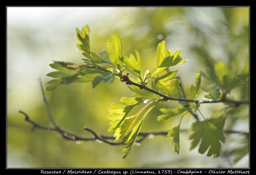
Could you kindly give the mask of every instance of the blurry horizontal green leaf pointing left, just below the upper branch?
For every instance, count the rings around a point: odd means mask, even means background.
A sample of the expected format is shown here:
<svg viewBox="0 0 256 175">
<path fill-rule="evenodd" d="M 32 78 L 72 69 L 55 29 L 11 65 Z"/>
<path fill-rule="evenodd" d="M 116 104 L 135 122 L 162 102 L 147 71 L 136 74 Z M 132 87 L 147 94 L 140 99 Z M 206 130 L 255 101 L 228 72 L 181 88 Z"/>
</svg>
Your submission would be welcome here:
<svg viewBox="0 0 256 175">
<path fill-rule="evenodd" d="M 192 109 L 192 107 L 187 107 L 187 108 L 175 108 L 175 109 L 165 109 L 165 108 L 161 108 L 159 109 L 161 112 L 163 112 L 164 114 L 160 115 L 157 117 L 157 120 L 159 122 L 165 121 L 173 116 L 176 116 L 178 114 L 181 114 L 187 110 Z"/>
</svg>

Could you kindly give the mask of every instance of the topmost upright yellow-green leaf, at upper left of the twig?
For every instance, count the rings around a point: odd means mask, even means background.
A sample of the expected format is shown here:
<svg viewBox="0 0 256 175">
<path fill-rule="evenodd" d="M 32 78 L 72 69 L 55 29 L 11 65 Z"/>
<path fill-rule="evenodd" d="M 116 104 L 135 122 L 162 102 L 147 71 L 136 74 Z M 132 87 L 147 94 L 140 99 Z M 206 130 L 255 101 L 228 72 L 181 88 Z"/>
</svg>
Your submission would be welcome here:
<svg viewBox="0 0 256 175">
<path fill-rule="evenodd" d="M 78 49 L 90 54 L 90 41 L 89 41 L 90 29 L 88 26 L 82 27 L 81 31 L 76 28 L 76 36 L 78 44 L 76 45 Z"/>
</svg>

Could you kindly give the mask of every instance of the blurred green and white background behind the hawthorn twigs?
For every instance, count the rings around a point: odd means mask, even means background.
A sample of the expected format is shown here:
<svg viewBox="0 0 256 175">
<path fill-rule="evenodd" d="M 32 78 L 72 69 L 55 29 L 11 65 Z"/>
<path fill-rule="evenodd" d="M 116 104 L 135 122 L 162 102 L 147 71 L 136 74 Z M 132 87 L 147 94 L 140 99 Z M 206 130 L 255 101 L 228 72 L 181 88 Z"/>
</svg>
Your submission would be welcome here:
<svg viewBox="0 0 256 175">
<path fill-rule="evenodd" d="M 168 49 L 182 49 L 180 55 L 188 62 L 174 67 L 182 80 L 184 92 L 195 85 L 199 70 L 211 69 L 222 60 L 233 65 L 235 75 L 241 73 L 249 59 L 249 7 L 7 7 L 6 8 L 6 167 L 7 168 L 248 168 L 249 154 L 234 161 L 229 152 L 243 147 L 240 134 L 227 134 L 218 158 L 189 151 L 189 133 L 180 135 L 180 154 L 174 154 L 172 138 L 155 136 L 134 146 L 122 160 L 124 146 L 83 142 L 77 144 L 61 138 L 58 133 L 36 129 L 18 113 L 24 111 L 35 122 L 50 125 L 42 100 L 39 78 L 51 80 L 46 74 L 54 71 L 52 60 L 82 62 L 83 55 L 76 48 L 76 27 L 90 27 L 91 51 L 106 49 L 112 33 L 123 41 L 123 55 L 140 52 L 143 72 L 156 65 L 156 47 L 163 40 Z M 202 83 L 208 83 L 204 81 Z M 101 83 L 92 89 L 91 83 L 62 85 L 45 92 L 53 117 L 60 127 L 79 134 L 87 126 L 108 134 L 106 119 L 111 103 L 123 96 L 132 96 L 124 83 L 115 80 Z M 204 93 L 198 95 L 203 99 Z M 249 90 L 232 91 L 237 99 L 249 99 Z M 170 108 L 176 102 L 162 104 Z M 211 112 L 223 104 L 204 104 L 202 112 Z M 155 109 L 145 119 L 142 131 L 169 131 L 179 117 L 164 123 L 156 120 Z M 182 120 L 181 129 L 188 129 L 192 117 Z M 249 105 L 241 106 L 228 129 L 249 132 Z"/>
</svg>

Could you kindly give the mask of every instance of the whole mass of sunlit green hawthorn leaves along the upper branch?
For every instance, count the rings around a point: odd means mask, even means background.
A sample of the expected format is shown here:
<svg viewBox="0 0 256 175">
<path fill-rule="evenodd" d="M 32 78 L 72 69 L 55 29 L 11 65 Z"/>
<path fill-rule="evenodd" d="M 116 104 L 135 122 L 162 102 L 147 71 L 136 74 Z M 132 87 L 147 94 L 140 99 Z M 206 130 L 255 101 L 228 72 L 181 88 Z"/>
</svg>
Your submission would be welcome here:
<svg viewBox="0 0 256 175">
<path fill-rule="evenodd" d="M 99 83 L 112 83 L 115 78 L 121 82 L 126 82 L 128 88 L 134 93 L 133 97 L 122 97 L 121 103 L 126 105 L 113 103 L 108 109 L 107 119 L 109 123 L 108 132 L 114 133 L 115 141 L 128 144 L 123 152 L 126 152 L 125 158 L 131 151 L 132 146 L 136 143 L 138 134 L 145 117 L 148 115 L 158 103 L 167 101 L 165 95 L 169 99 L 181 100 L 183 97 L 181 81 L 176 77 L 176 71 L 169 71 L 171 66 L 178 66 L 186 63 L 180 56 L 180 50 L 172 52 L 172 49 L 165 48 L 165 41 L 157 45 L 156 51 L 156 67 L 145 73 L 142 73 L 142 58 L 138 51 L 135 51 L 136 57 L 132 54 L 129 57 L 123 56 L 123 45 L 119 35 L 112 34 L 110 41 L 107 42 L 107 50 L 102 50 L 99 56 L 90 50 L 89 27 L 83 27 L 81 30 L 76 29 L 78 44 L 77 47 L 83 51 L 85 58 L 83 63 L 69 63 L 64 61 L 55 61 L 50 64 L 56 72 L 50 72 L 47 75 L 55 78 L 50 80 L 50 84 L 46 90 L 53 90 L 62 84 L 72 82 L 92 82 L 92 88 Z M 124 73 L 124 71 L 129 73 Z M 214 76 L 210 76 L 214 73 Z M 181 119 L 185 114 L 199 111 L 201 101 L 196 101 L 196 96 L 202 88 L 207 94 L 204 95 L 210 101 L 217 101 L 224 98 L 233 88 L 243 83 L 245 86 L 249 76 L 249 63 L 245 66 L 244 71 L 237 77 L 234 76 L 232 66 L 224 62 L 218 62 L 214 65 L 214 72 L 199 71 L 196 74 L 196 84 L 191 85 L 190 93 L 193 100 L 190 103 L 182 103 L 181 108 L 165 109 L 161 108 L 162 115 L 157 117 L 159 122 L 164 122 L 174 116 L 181 116 L 180 122 L 173 127 L 168 136 L 173 138 L 174 152 L 179 154 L 180 151 L 180 125 Z M 132 74 L 137 80 L 128 78 L 128 74 Z M 212 80 L 215 83 L 213 87 L 201 87 L 202 77 Z M 151 84 L 149 84 L 151 80 Z M 151 87 L 151 88 L 150 88 Z M 221 96 L 221 93 L 224 94 Z M 143 105 L 142 105 L 143 104 Z M 135 114 L 130 114 L 136 106 L 142 106 Z M 142 117 L 140 114 L 146 111 Z M 221 144 L 225 142 L 223 135 L 223 127 L 225 124 L 226 113 L 222 110 L 221 115 L 212 116 L 210 119 L 197 121 L 192 124 L 190 131 L 192 132 L 189 139 L 191 141 L 190 149 L 199 145 L 198 152 L 203 154 L 208 149 L 207 156 L 220 156 Z M 199 111 L 200 112 L 200 111 Z M 201 112 L 200 112 L 201 113 Z"/>
</svg>

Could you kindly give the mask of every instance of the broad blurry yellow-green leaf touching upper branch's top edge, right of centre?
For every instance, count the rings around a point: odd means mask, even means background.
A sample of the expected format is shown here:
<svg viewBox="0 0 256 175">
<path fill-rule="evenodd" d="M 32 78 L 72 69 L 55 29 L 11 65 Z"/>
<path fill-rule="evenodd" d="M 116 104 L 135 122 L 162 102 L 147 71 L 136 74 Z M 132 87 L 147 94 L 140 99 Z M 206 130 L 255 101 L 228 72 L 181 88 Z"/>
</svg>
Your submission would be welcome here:
<svg viewBox="0 0 256 175">
<path fill-rule="evenodd" d="M 167 74 L 153 80 L 152 85 L 156 89 L 170 97 L 180 98 L 181 95 L 181 81 L 179 79 L 173 79 L 177 71 L 168 72 Z"/>
</svg>

